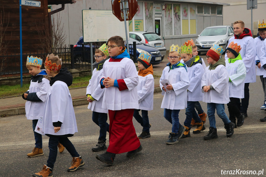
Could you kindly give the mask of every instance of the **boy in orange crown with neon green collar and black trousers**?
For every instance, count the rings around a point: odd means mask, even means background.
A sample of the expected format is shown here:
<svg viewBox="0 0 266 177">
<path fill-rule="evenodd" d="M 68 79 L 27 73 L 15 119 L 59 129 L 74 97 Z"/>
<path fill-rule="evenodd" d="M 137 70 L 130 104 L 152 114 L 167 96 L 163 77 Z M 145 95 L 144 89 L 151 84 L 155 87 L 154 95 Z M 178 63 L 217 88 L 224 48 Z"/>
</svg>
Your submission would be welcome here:
<svg viewBox="0 0 266 177">
<path fill-rule="evenodd" d="M 227 103 L 229 111 L 229 120 L 235 124 L 236 127 L 241 127 L 244 123 L 244 115 L 240 113 L 240 98 L 244 98 L 244 86 L 246 78 L 246 67 L 242 61 L 240 45 L 233 41 L 226 48 L 228 60 L 225 61 L 225 66 L 229 74 L 229 99 Z M 237 118 L 237 123 L 235 120 Z"/>
</svg>

